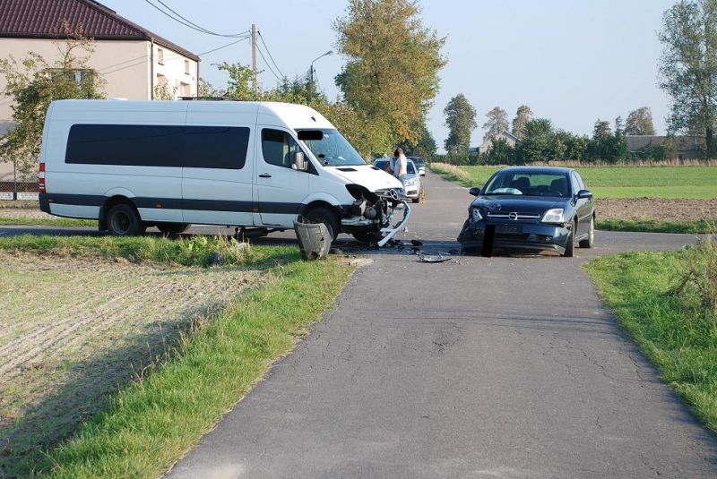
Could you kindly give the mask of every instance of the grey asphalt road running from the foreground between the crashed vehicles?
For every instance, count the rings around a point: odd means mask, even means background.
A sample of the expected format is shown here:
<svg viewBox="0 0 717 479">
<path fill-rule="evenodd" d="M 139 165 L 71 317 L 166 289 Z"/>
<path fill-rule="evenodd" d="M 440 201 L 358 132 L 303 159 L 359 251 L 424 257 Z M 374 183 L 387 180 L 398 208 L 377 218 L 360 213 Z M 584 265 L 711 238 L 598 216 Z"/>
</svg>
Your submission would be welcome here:
<svg viewBox="0 0 717 479">
<path fill-rule="evenodd" d="M 471 197 L 427 184 L 405 237 L 450 249 Z M 580 268 L 694 239 L 598 232 L 573 259 L 367 252 L 311 335 L 168 476 L 715 477 L 715 437 Z"/>
</svg>

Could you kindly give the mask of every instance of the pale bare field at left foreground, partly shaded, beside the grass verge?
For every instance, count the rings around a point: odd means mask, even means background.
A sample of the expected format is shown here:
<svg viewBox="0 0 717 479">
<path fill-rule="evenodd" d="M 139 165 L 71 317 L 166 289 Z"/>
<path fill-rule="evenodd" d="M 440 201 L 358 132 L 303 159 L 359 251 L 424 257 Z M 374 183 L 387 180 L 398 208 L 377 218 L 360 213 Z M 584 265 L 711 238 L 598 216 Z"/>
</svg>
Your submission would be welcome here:
<svg viewBox="0 0 717 479">
<path fill-rule="evenodd" d="M 73 432 L 258 270 L 0 252 L 0 475 Z"/>
</svg>

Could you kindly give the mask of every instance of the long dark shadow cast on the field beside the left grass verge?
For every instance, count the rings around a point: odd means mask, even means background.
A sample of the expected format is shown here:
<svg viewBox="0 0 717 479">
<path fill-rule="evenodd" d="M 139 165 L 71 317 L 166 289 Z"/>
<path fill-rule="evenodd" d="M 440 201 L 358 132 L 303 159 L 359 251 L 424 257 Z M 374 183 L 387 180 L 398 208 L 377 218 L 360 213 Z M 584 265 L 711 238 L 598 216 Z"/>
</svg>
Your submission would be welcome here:
<svg viewBox="0 0 717 479">
<path fill-rule="evenodd" d="M 82 422 L 104 411 L 117 390 L 142 377 L 177 350 L 179 339 L 202 321 L 211 321 L 224 304 L 179 312 L 175 319 L 143 325 L 127 344 L 91 360 L 48 366 L 39 374 L 66 374 L 48 396 L 22 411 L 22 418 L 0 432 L 0 477 L 27 477 L 48 467 L 44 452 L 70 438 Z"/>
</svg>

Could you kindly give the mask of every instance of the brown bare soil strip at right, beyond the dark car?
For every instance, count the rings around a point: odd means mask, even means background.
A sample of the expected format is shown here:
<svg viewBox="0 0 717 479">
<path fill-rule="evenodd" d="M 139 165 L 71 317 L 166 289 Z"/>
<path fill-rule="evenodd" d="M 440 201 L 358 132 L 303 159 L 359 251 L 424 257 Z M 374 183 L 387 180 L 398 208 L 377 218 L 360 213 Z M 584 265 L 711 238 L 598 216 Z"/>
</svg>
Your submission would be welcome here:
<svg viewBox="0 0 717 479">
<path fill-rule="evenodd" d="M 693 221 L 717 219 L 717 199 L 597 198 L 598 218 Z"/>
</svg>

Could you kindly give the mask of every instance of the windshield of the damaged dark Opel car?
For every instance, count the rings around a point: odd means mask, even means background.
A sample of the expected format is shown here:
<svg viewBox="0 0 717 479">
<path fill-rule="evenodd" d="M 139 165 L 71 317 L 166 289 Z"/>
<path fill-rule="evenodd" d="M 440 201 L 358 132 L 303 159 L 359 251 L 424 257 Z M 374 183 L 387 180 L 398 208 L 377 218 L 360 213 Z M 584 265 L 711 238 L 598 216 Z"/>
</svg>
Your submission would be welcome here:
<svg viewBox="0 0 717 479">
<path fill-rule="evenodd" d="M 567 197 L 570 186 L 563 173 L 499 172 L 481 194 Z"/>
</svg>

